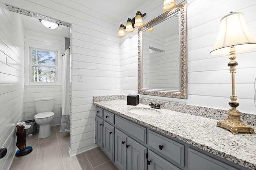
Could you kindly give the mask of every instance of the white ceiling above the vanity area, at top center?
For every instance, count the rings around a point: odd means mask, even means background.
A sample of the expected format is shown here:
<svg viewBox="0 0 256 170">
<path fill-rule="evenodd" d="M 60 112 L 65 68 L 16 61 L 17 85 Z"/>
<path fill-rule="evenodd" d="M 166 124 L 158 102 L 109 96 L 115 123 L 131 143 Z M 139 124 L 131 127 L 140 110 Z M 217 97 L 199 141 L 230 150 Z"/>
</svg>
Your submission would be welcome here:
<svg viewBox="0 0 256 170">
<path fill-rule="evenodd" d="M 134 11 L 145 0 L 70 0 L 82 6 L 86 6 L 110 18 L 118 21 L 122 20 L 127 14 Z"/>
</svg>

